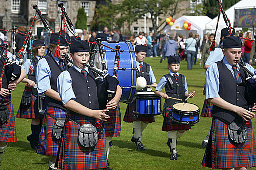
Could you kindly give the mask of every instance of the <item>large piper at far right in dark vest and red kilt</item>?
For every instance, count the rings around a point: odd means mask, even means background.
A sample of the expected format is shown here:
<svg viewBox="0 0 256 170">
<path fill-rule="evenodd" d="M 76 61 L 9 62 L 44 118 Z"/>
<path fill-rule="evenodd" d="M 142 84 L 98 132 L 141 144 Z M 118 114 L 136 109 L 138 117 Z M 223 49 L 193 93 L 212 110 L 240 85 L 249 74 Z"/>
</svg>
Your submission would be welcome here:
<svg viewBox="0 0 256 170">
<path fill-rule="evenodd" d="M 206 71 L 205 98 L 213 103 L 212 129 L 204 153 L 202 166 L 222 170 L 246 170 L 256 166 L 256 143 L 252 118 L 245 99 L 245 73 L 238 65 L 242 43 L 239 37 L 225 37 L 222 44 L 224 58 L 212 64 Z M 246 64 L 254 72 L 254 68 Z M 253 106 L 252 111 L 256 111 Z M 247 131 L 247 140 L 235 142 L 240 137 L 229 136 L 230 124 L 240 125 L 241 132 Z M 240 129 L 238 128 L 238 129 Z M 240 133 L 243 135 L 244 133 Z"/>
</svg>

